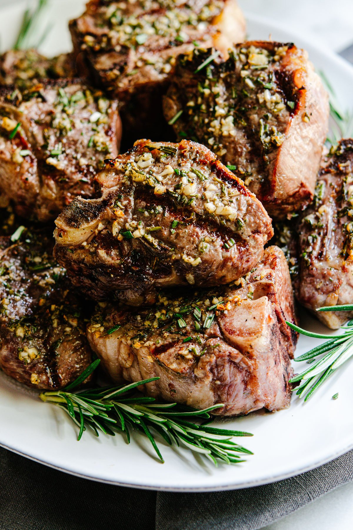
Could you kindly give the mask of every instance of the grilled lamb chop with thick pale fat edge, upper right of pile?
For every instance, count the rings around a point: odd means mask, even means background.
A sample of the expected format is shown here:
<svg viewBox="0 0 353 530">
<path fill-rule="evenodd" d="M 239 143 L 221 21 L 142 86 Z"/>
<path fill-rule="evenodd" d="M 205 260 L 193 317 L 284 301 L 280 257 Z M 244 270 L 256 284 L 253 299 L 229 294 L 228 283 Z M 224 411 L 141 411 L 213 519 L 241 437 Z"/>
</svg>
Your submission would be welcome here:
<svg viewBox="0 0 353 530">
<path fill-rule="evenodd" d="M 227 61 L 210 50 L 179 57 L 164 100 L 178 137 L 201 142 L 245 181 L 271 216 L 312 198 L 329 103 L 305 51 L 245 42 Z"/>
</svg>

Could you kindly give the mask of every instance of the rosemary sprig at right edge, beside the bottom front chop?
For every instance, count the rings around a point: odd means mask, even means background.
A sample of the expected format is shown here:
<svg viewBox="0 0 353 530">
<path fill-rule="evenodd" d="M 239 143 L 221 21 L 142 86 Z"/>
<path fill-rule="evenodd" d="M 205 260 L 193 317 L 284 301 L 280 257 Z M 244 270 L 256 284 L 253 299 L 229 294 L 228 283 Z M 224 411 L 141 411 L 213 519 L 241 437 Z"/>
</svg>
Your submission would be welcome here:
<svg viewBox="0 0 353 530">
<path fill-rule="evenodd" d="M 338 310 L 340 307 L 347 307 L 343 311 L 351 311 L 352 305 L 330 307 L 330 311 Z M 328 308 L 320 308 L 321 311 L 328 311 Z M 321 333 L 312 333 L 299 328 L 292 322 L 286 321 L 295 331 L 306 335 L 307 337 L 315 337 L 318 339 L 327 339 L 329 335 L 323 335 Z M 296 357 L 295 361 L 306 360 L 310 363 L 309 368 L 306 368 L 300 374 L 295 375 L 290 380 L 291 383 L 301 382 L 299 386 L 294 388 L 296 394 L 302 398 L 305 395 L 304 401 L 307 401 L 310 396 L 313 395 L 315 390 L 330 377 L 333 372 L 337 370 L 343 363 L 345 363 L 350 357 L 353 356 L 353 320 L 347 322 L 347 324 L 341 326 L 342 333 L 334 335 L 329 340 L 324 342 L 320 346 L 316 346 L 305 354 Z M 320 356 L 320 359 L 315 358 Z"/>
</svg>

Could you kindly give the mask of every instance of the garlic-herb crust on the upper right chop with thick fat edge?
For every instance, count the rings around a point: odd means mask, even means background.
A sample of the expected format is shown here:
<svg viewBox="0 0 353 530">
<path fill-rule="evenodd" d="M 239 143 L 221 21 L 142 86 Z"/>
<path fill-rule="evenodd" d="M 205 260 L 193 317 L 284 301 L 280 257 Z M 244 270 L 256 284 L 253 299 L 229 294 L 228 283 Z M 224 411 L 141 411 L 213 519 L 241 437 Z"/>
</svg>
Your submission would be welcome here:
<svg viewBox="0 0 353 530">
<path fill-rule="evenodd" d="M 209 50 L 194 50 L 179 57 L 168 92 L 176 103 L 177 119 L 171 121 L 179 138 L 205 143 L 255 193 L 297 105 L 299 89 L 292 84 L 287 93 L 283 84 L 282 63 L 291 46 L 239 45 L 225 62 Z M 310 117 L 304 113 L 302 119 Z"/>
</svg>

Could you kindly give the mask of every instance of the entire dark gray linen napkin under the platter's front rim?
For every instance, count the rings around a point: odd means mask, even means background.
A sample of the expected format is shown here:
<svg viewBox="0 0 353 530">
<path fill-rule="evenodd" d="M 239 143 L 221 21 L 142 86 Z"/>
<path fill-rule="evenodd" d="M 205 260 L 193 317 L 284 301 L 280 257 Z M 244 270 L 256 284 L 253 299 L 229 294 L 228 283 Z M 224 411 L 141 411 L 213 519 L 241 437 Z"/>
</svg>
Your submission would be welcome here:
<svg viewBox="0 0 353 530">
<path fill-rule="evenodd" d="M 80 479 L 0 448 L 0 530 L 256 530 L 351 480 L 353 451 L 256 488 L 156 493 Z"/>
</svg>

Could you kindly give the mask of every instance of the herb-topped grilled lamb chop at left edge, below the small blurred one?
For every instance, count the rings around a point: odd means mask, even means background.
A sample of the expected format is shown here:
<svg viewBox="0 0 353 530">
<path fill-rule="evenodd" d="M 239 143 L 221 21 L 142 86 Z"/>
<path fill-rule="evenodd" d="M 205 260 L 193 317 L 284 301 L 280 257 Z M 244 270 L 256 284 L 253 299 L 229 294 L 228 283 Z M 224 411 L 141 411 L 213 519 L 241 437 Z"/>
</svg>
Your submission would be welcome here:
<svg viewBox="0 0 353 530">
<path fill-rule="evenodd" d="M 77 195 L 94 195 L 94 175 L 117 155 L 117 102 L 78 80 L 0 91 L 0 194 L 16 212 L 55 218 Z"/>
</svg>

